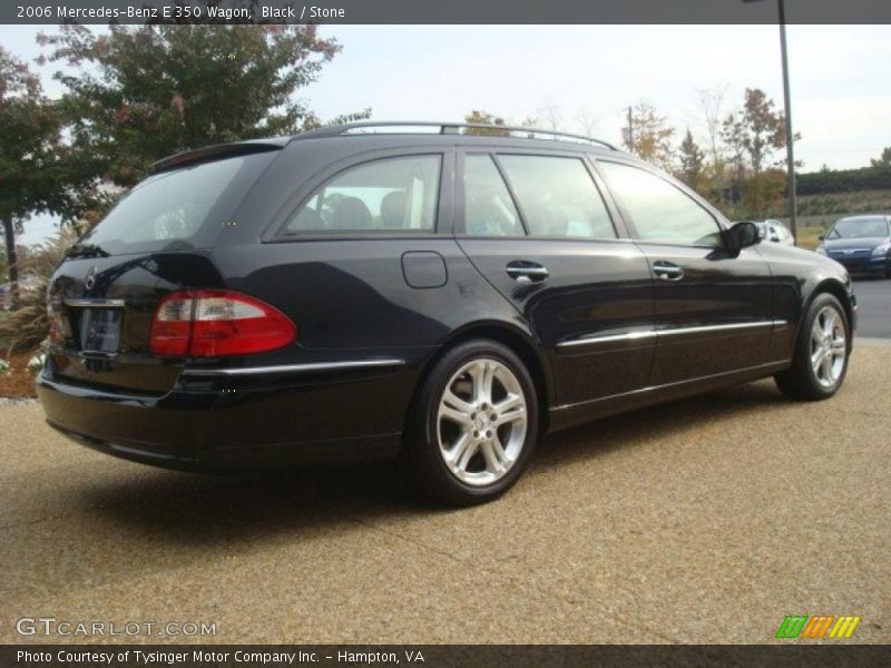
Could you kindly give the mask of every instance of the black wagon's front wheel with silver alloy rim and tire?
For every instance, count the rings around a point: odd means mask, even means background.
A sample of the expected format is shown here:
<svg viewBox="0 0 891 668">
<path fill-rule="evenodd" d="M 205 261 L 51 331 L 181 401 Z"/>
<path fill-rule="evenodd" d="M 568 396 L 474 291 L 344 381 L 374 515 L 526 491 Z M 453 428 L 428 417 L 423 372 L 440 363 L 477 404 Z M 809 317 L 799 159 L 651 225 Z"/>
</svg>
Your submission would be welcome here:
<svg viewBox="0 0 891 668">
<path fill-rule="evenodd" d="M 803 401 L 835 394 L 848 373 L 851 326 L 844 308 L 829 293 L 817 295 L 807 307 L 792 366 L 774 376 L 780 391 Z"/>
</svg>

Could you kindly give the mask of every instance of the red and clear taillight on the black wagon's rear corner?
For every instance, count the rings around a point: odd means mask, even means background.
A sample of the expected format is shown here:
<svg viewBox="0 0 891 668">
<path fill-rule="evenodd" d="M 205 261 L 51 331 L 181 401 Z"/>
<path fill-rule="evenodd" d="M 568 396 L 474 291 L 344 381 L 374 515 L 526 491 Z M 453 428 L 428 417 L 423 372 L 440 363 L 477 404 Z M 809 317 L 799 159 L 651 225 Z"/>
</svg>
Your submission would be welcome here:
<svg viewBox="0 0 891 668">
<path fill-rule="evenodd" d="M 166 295 L 155 311 L 149 347 L 156 355 L 218 357 L 274 351 L 297 330 L 268 304 L 219 289 Z"/>
</svg>

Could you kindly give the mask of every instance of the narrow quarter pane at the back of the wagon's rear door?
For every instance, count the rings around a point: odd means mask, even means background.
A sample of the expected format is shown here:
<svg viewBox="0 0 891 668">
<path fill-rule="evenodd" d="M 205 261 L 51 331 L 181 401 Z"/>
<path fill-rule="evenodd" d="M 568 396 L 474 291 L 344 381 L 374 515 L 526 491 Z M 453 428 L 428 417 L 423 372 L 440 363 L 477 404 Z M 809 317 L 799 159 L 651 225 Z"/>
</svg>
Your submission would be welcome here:
<svg viewBox="0 0 891 668">
<path fill-rule="evenodd" d="M 522 223 L 491 156 L 464 157 L 464 234 L 523 236 Z"/>
</svg>

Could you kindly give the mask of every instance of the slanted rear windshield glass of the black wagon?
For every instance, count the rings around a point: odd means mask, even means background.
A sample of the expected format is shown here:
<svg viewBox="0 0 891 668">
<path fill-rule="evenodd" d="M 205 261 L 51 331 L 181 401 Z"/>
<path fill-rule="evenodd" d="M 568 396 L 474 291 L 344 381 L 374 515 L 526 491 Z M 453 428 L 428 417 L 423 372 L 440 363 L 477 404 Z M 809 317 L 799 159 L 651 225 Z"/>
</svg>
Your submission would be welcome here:
<svg viewBox="0 0 891 668">
<path fill-rule="evenodd" d="M 110 255 L 209 247 L 276 154 L 242 155 L 150 176 L 79 243 Z"/>
</svg>

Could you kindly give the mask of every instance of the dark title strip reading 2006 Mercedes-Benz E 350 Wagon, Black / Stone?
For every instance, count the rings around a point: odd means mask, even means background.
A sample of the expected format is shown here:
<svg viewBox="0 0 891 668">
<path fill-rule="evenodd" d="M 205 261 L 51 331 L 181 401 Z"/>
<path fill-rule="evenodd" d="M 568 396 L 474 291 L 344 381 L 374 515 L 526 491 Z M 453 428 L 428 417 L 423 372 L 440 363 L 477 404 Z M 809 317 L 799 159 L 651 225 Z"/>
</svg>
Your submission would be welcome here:
<svg viewBox="0 0 891 668">
<path fill-rule="evenodd" d="M 779 0 L 3 0 L 2 23 L 776 23 Z M 784 0 L 789 23 L 891 23 L 889 0 Z"/>
</svg>

